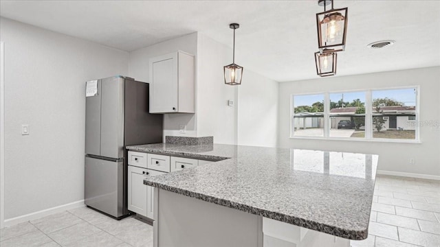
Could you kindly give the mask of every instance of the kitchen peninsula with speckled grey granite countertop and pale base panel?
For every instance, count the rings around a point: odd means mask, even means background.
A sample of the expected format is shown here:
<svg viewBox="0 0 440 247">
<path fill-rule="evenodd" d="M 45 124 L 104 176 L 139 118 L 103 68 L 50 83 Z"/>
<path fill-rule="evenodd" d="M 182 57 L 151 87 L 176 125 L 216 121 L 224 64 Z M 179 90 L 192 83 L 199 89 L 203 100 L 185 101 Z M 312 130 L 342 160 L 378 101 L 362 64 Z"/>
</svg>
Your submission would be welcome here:
<svg viewBox="0 0 440 247">
<path fill-rule="evenodd" d="M 377 155 L 241 145 L 134 152 L 217 161 L 146 176 L 155 246 L 349 246 L 368 236 Z"/>
</svg>

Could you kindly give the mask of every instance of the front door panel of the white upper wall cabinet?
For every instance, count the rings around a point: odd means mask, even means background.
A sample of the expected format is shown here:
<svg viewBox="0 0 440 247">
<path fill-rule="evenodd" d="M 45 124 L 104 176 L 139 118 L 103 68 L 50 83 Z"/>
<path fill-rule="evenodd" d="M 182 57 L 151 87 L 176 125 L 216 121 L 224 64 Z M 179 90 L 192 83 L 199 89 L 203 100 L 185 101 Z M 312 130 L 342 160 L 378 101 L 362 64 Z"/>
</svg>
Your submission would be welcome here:
<svg viewBox="0 0 440 247">
<path fill-rule="evenodd" d="M 177 112 L 177 53 L 150 60 L 150 113 Z"/>
</svg>

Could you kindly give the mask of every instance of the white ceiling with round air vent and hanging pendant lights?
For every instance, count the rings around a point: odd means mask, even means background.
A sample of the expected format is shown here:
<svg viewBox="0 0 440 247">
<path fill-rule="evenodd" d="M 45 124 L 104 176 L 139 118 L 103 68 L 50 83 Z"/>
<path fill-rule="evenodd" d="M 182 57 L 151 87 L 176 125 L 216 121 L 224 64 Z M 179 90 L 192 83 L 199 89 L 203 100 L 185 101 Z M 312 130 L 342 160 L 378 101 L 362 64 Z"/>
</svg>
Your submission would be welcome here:
<svg viewBox="0 0 440 247">
<path fill-rule="evenodd" d="M 349 8 L 337 76 L 440 65 L 440 1 L 334 5 Z M 3 17 L 124 51 L 192 32 L 232 46 L 228 24 L 236 22 L 236 63 L 278 82 L 318 78 L 315 14 L 322 11 L 316 0 L 0 1 Z M 397 42 L 366 47 L 377 40 Z"/>
</svg>

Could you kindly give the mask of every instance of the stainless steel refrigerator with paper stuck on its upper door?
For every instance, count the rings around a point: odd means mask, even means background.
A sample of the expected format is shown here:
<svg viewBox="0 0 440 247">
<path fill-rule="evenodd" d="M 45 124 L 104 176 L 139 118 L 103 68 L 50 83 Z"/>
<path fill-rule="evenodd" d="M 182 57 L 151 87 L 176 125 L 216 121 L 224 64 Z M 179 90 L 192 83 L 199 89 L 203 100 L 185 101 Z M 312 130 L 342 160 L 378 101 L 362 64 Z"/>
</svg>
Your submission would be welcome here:
<svg viewBox="0 0 440 247">
<path fill-rule="evenodd" d="M 115 76 L 86 83 L 85 204 L 122 218 L 126 145 L 162 142 L 163 115 L 148 113 L 148 83 Z"/>
</svg>

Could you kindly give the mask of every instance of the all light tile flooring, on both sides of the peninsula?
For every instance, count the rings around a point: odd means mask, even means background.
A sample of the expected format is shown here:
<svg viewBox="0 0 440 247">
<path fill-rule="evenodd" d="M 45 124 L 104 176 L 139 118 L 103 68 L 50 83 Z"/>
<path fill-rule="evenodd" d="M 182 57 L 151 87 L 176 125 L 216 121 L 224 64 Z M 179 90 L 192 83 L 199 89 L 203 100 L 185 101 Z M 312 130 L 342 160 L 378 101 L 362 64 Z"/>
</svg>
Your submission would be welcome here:
<svg viewBox="0 0 440 247">
<path fill-rule="evenodd" d="M 377 176 L 369 237 L 351 246 L 440 246 L 440 181 Z M 153 246 L 153 227 L 86 207 L 1 230 L 0 246 Z"/>
</svg>

